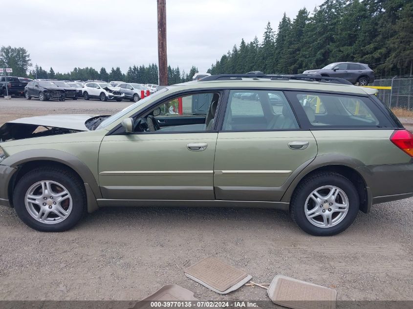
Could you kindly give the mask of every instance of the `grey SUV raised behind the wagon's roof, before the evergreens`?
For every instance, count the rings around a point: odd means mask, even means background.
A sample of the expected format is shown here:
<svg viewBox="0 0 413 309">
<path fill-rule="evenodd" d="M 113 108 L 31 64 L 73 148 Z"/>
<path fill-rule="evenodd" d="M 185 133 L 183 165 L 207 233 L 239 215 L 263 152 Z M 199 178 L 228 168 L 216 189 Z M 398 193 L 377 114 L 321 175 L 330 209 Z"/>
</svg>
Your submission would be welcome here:
<svg viewBox="0 0 413 309">
<path fill-rule="evenodd" d="M 334 62 L 322 69 L 307 70 L 304 74 L 320 74 L 326 77 L 339 77 L 359 86 L 374 82 L 374 72 L 369 65 L 358 62 Z"/>
</svg>

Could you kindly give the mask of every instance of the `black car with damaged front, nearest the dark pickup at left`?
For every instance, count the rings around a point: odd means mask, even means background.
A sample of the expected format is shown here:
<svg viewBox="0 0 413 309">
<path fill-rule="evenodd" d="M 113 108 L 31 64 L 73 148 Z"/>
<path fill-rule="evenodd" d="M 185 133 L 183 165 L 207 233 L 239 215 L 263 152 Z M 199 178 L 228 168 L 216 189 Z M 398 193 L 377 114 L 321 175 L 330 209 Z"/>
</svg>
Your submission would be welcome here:
<svg viewBox="0 0 413 309">
<path fill-rule="evenodd" d="M 27 100 L 39 98 L 40 101 L 65 101 L 65 89 L 56 86 L 52 82 L 33 81 L 24 87 L 24 96 Z"/>
</svg>

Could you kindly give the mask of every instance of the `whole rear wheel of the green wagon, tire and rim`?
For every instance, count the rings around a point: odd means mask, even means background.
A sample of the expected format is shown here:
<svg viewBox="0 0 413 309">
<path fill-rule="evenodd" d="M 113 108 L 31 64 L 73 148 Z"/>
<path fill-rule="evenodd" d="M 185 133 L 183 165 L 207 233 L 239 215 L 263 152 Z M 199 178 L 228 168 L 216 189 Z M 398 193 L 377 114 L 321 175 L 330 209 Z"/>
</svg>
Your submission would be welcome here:
<svg viewBox="0 0 413 309">
<path fill-rule="evenodd" d="M 293 220 L 314 236 L 332 236 L 348 228 L 360 206 L 355 186 L 343 175 L 320 172 L 304 179 L 294 191 Z"/>
</svg>

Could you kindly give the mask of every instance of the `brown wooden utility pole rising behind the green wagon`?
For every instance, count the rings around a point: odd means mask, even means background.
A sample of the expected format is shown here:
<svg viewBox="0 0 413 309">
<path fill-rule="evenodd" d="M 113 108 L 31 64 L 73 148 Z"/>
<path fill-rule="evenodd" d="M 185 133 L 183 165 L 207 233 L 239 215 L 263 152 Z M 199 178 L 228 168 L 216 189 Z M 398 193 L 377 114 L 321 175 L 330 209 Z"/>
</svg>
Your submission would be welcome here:
<svg viewBox="0 0 413 309">
<path fill-rule="evenodd" d="M 168 85 L 168 59 L 166 56 L 166 0 L 158 1 L 158 69 L 159 85 Z"/>
</svg>

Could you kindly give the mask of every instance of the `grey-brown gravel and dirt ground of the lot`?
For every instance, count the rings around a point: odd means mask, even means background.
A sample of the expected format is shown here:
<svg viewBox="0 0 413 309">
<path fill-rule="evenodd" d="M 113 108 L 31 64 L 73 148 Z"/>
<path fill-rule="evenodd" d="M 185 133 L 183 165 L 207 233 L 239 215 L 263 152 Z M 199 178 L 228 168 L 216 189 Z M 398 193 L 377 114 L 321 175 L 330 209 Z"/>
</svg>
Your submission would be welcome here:
<svg viewBox="0 0 413 309">
<path fill-rule="evenodd" d="M 0 124 L 127 105 L 0 99 Z M 413 128 L 412 120 L 404 123 Z M 283 274 L 335 288 L 338 300 L 413 300 L 412 206 L 413 199 L 375 205 L 345 232 L 324 238 L 272 209 L 108 207 L 70 231 L 41 233 L 0 207 L 0 300 L 139 300 L 171 283 L 203 300 L 268 299 L 261 288 L 219 295 L 186 278 L 183 269 L 207 256 L 255 282 Z"/>
</svg>

